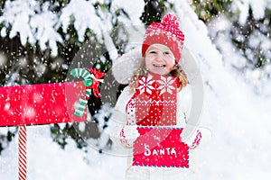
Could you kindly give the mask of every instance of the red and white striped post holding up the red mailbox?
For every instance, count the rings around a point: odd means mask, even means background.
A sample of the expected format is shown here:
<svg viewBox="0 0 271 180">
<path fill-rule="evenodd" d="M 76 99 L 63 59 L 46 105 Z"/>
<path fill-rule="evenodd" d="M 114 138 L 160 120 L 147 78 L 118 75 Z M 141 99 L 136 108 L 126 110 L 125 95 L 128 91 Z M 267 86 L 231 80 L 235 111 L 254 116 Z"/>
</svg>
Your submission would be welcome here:
<svg viewBox="0 0 271 180">
<path fill-rule="evenodd" d="M 26 180 L 27 177 L 27 154 L 26 154 L 26 126 L 19 126 L 19 180 Z"/>
</svg>

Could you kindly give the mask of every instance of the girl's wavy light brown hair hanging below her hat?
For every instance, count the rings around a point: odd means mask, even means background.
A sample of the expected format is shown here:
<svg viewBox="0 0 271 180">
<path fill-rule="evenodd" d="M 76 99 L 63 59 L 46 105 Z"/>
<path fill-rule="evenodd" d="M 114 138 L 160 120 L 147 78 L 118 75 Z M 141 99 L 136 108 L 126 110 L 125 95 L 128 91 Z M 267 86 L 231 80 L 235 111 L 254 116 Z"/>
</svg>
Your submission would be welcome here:
<svg viewBox="0 0 271 180">
<path fill-rule="evenodd" d="M 135 93 L 135 88 L 137 85 L 138 78 L 140 76 L 146 76 L 149 72 L 147 71 L 145 67 L 145 58 L 142 58 L 138 64 L 138 67 L 136 67 L 134 74 L 130 81 L 130 93 Z M 185 73 L 182 70 L 182 67 L 178 66 L 177 64 L 174 65 L 172 71 L 170 72 L 170 75 L 175 76 L 179 78 L 180 80 L 180 87 L 179 91 L 182 90 L 182 87 L 186 86 L 188 84 L 188 79 Z"/>
</svg>

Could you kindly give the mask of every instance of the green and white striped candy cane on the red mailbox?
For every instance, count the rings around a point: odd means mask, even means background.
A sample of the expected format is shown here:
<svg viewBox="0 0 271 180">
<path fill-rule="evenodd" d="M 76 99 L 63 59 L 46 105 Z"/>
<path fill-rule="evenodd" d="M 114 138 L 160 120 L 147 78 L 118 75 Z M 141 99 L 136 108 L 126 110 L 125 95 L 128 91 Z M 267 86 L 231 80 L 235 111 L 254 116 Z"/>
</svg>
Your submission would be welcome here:
<svg viewBox="0 0 271 180">
<path fill-rule="evenodd" d="M 82 76 L 84 78 L 84 85 L 90 86 L 92 85 L 92 78 L 93 75 L 89 73 L 88 70 L 84 68 L 74 68 L 70 71 L 70 75 L 76 77 L 76 76 Z M 86 90 L 86 96 L 89 97 L 91 94 L 91 90 L 87 89 Z M 79 117 L 82 117 L 84 114 L 84 111 L 86 109 L 88 100 L 86 98 L 79 98 L 79 102 L 75 106 L 75 112 L 74 115 L 77 115 Z"/>
</svg>

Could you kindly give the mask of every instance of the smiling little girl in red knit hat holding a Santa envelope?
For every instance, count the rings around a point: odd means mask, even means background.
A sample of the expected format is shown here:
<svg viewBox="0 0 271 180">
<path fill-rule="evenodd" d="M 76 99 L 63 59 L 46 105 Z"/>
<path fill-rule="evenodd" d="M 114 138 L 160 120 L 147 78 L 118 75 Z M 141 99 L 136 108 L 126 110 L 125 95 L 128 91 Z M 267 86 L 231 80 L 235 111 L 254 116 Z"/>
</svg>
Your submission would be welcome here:
<svg viewBox="0 0 271 180">
<path fill-rule="evenodd" d="M 178 65 L 183 40 L 184 34 L 173 14 L 166 14 L 161 23 L 152 23 L 147 28 L 141 61 L 130 84 L 118 97 L 111 119 L 115 121 L 111 139 L 118 145 L 132 149 L 140 136 L 138 126 L 185 127 L 192 94 Z M 196 130 L 184 143 L 196 148 L 200 140 L 201 131 Z M 171 179 L 170 176 L 180 177 L 178 168 L 132 166 L 132 158 L 128 158 L 126 179 Z"/>
</svg>

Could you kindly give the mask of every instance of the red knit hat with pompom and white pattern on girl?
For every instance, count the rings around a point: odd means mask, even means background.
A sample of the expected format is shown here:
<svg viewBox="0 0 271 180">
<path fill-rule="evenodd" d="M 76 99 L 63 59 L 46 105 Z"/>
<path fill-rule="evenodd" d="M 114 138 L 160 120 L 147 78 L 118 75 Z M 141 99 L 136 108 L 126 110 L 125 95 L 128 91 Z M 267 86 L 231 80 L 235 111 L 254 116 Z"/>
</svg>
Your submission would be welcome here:
<svg viewBox="0 0 271 180">
<path fill-rule="evenodd" d="M 178 18 L 173 14 L 166 14 L 161 23 L 151 23 L 145 31 L 142 45 L 142 56 L 152 44 L 163 44 L 173 51 L 176 63 L 182 55 L 184 34 L 179 29 Z"/>
</svg>

